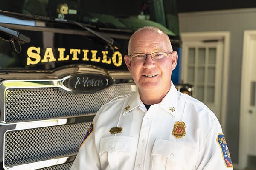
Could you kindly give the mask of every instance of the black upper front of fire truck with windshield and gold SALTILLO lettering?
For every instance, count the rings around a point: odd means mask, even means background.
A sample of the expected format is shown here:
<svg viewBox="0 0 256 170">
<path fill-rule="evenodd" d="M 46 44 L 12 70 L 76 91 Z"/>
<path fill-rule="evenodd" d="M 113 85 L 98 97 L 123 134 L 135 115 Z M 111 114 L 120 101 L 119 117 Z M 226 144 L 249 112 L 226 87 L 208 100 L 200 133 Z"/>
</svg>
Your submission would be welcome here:
<svg viewBox="0 0 256 170">
<path fill-rule="evenodd" d="M 50 70 L 82 63 L 124 70 L 129 36 L 148 25 L 180 40 L 175 0 L 1 0 L 0 28 L 25 39 L 10 48 L 4 40 L 12 37 L 0 29 L 0 69 Z M 119 48 L 100 34 L 110 36 Z"/>
</svg>

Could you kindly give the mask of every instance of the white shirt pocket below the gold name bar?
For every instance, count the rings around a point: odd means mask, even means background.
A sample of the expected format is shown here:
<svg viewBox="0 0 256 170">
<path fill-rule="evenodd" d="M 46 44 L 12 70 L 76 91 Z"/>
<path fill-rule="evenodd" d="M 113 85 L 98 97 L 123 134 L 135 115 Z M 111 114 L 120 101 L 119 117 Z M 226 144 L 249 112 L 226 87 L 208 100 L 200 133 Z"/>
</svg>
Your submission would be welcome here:
<svg viewBox="0 0 256 170">
<path fill-rule="evenodd" d="M 99 157 L 102 167 L 108 170 L 129 169 L 132 141 L 133 137 L 130 136 L 109 136 L 100 139 Z"/>
</svg>

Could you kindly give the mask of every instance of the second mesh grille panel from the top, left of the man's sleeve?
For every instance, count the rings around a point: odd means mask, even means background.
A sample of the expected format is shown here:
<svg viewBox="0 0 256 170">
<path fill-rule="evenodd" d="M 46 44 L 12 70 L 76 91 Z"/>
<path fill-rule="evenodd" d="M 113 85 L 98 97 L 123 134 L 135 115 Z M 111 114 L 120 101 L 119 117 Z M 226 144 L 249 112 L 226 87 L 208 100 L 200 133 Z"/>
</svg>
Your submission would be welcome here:
<svg viewBox="0 0 256 170">
<path fill-rule="evenodd" d="M 90 124 L 9 131 L 5 135 L 5 166 L 76 154 Z"/>
</svg>

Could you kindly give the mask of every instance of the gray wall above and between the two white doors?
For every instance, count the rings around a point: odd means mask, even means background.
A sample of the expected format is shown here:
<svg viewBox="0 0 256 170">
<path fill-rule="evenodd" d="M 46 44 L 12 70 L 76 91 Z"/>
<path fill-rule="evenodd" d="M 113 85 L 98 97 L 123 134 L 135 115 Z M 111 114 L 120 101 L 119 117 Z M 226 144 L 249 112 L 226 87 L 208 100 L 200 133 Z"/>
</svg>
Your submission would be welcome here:
<svg viewBox="0 0 256 170">
<path fill-rule="evenodd" d="M 242 48 L 244 30 L 256 29 L 256 8 L 179 13 L 180 31 L 230 32 L 229 79 L 227 91 L 227 122 L 225 138 L 233 163 L 239 157 L 239 116 Z"/>
</svg>

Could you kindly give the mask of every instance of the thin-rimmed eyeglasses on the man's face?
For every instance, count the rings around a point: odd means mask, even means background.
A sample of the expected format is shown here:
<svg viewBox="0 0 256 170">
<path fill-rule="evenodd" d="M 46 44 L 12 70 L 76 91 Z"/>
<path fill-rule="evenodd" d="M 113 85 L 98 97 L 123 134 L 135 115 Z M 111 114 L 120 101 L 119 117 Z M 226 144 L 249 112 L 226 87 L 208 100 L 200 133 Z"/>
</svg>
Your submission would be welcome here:
<svg viewBox="0 0 256 170">
<path fill-rule="evenodd" d="M 167 57 L 167 55 L 172 54 L 171 53 L 166 53 L 166 52 L 154 52 L 151 54 L 145 54 L 145 53 L 134 53 L 129 55 L 131 57 L 132 62 L 144 62 L 147 58 L 147 56 L 151 55 L 151 59 L 153 61 L 160 61 Z"/>
</svg>

